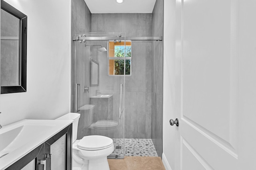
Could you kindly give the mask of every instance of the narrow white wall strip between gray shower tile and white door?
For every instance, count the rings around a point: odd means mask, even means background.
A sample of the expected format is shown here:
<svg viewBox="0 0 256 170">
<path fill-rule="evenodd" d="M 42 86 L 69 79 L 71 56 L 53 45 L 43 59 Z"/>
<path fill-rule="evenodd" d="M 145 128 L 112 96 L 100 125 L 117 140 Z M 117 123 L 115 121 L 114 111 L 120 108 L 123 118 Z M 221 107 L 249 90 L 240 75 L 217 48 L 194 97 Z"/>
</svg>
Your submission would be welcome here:
<svg viewBox="0 0 256 170">
<path fill-rule="evenodd" d="M 174 167 L 175 131 L 170 119 L 175 115 L 175 0 L 164 0 L 164 117 L 163 155 L 166 170 Z"/>
</svg>

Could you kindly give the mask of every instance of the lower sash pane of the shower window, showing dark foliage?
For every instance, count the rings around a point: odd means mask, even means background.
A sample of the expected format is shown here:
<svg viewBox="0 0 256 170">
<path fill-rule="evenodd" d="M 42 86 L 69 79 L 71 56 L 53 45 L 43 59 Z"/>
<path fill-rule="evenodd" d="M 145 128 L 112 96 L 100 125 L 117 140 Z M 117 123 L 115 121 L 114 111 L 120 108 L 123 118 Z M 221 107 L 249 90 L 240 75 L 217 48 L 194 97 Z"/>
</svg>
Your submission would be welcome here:
<svg viewBox="0 0 256 170">
<path fill-rule="evenodd" d="M 131 75 L 131 60 L 125 60 L 125 75 Z M 109 60 L 109 75 L 124 75 L 124 60 Z"/>
</svg>

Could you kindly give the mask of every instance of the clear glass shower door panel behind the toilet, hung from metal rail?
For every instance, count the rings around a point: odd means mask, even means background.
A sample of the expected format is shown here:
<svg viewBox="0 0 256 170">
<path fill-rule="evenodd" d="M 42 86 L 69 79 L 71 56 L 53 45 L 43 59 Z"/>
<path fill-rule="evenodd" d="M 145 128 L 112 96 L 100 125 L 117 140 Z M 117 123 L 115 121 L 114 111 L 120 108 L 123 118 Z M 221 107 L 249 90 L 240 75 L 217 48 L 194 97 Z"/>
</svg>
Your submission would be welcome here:
<svg viewBox="0 0 256 170">
<path fill-rule="evenodd" d="M 73 40 L 78 139 L 110 137 L 115 150 L 108 158 L 124 158 L 125 33 L 78 33 Z"/>
</svg>

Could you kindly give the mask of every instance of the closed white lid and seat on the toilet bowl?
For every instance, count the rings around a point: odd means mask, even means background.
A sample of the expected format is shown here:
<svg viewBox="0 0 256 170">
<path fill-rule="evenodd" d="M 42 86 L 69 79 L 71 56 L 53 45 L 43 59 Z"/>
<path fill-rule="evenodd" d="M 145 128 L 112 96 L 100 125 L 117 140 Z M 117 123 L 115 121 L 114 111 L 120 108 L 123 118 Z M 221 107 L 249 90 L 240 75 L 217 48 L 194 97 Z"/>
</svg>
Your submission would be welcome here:
<svg viewBox="0 0 256 170">
<path fill-rule="evenodd" d="M 100 135 L 90 135 L 83 137 L 77 147 L 84 150 L 100 150 L 113 145 L 113 140 L 109 137 Z"/>
</svg>

